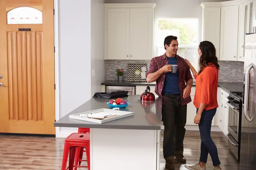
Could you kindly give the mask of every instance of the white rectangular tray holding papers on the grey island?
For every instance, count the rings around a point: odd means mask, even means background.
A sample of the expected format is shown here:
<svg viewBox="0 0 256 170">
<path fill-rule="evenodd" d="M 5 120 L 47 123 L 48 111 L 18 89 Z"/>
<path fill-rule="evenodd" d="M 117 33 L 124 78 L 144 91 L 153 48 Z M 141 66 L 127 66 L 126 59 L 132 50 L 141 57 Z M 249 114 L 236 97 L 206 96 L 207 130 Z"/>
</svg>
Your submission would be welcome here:
<svg viewBox="0 0 256 170">
<path fill-rule="evenodd" d="M 93 118 L 87 118 L 87 117 L 81 117 L 80 116 L 80 114 L 90 114 L 90 113 L 99 113 L 99 112 L 113 113 L 113 114 L 116 114 L 116 115 L 119 115 L 119 116 L 114 116 L 114 117 L 105 118 L 105 119 L 93 119 Z M 97 109 L 97 110 L 93 110 L 93 111 L 87 111 L 87 112 L 72 114 L 72 115 L 69 116 L 69 118 L 102 124 L 102 123 L 105 123 L 105 122 L 111 122 L 113 120 L 122 119 L 122 118 L 133 116 L 133 115 L 134 115 L 134 112 L 116 111 L 116 110 L 112 110 L 112 109 L 102 108 L 102 109 Z"/>
</svg>

